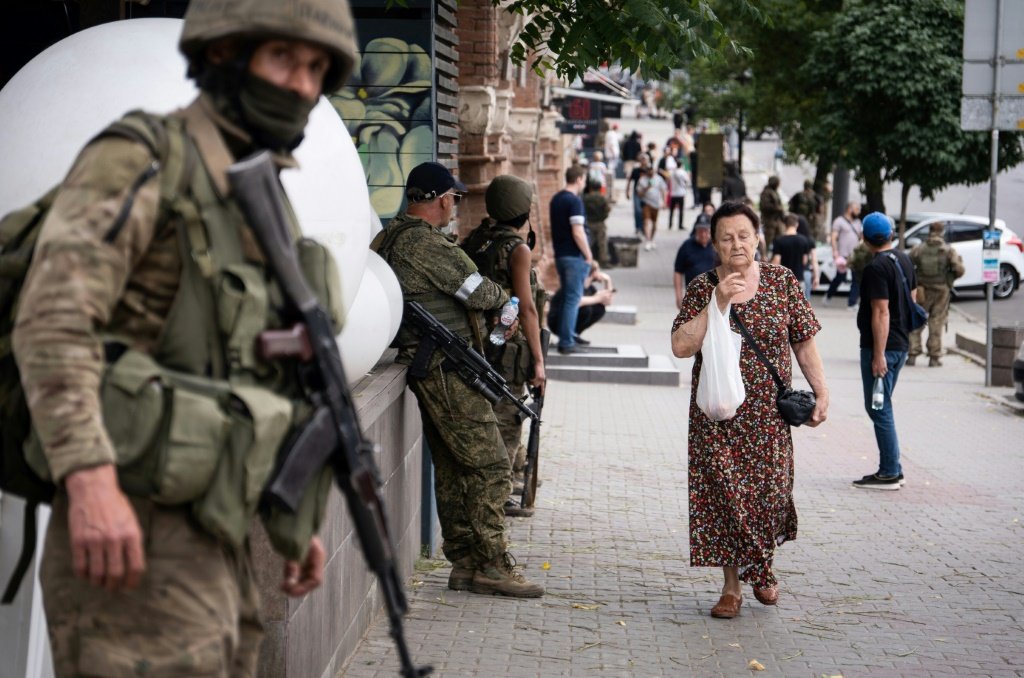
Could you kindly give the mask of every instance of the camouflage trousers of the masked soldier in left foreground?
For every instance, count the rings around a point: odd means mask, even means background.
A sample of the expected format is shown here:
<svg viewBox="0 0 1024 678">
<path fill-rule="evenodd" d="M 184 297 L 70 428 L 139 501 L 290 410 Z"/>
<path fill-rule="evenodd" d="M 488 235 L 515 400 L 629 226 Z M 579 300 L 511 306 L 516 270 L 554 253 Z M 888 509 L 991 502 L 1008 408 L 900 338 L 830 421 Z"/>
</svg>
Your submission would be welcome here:
<svg viewBox="0 0 1024 678">
<path fill-rule="evenodd" d="M 57 676 L 255 676 L 263 626 L 248 552 L 228 552 L 187 509 L 132 499 L 142 528 L 138 588 L 109 593 L 72 571 L 58 495 L 40 567 Z"/>
</svg>

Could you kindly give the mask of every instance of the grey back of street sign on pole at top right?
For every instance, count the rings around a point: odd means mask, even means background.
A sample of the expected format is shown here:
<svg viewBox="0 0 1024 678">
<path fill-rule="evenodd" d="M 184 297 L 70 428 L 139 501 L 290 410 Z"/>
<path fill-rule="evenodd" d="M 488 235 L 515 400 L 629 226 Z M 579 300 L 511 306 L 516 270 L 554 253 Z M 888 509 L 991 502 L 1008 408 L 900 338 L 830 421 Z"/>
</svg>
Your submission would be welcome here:
<svg viewBox="0 0 1024 678">
<path fill-rule="evenodd" d="M 993 100 L 997 102 L 994 129 L 1024 129 L 1022 27 L 1024 2 L 1020 0 L 967 0 L 961 129 L 993 129 Z"/>
</svg>

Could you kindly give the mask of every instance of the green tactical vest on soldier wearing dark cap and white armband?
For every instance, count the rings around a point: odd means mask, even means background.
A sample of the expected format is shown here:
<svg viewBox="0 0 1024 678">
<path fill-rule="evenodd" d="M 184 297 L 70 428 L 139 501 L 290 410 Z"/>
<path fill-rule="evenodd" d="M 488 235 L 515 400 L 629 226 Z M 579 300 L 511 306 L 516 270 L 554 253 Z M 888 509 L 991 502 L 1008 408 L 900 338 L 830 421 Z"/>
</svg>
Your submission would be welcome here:
<svg viewBox="0 0 1024 678">
<path fill-rule="evenodd" d="M 419 217 L 408 214 L 399 214 L 391 219 L 387 228 L 377 234 L 370 248 L 377 252 L 396 272 L 400 272 L 400 262 L 395 262 L 394 247 L 399 240 L 406 238 L 423 239 L 439 238 L 433 226 Z M 397 268 L 395 267 L 397 263 Z M 427 262 L 432 263 L 432 262 Z M 399 283 L 401 276 L 398 276 Z M 471 313 L 469 309 L 450 294 L 445 294 L 437 289 L 431 289 L 424 293 L 410 293 L 404 285 L 402 294 L 406 301 L 419 302 L 431 315 L 436 317 L 444 327 L 459 335 L 470 345 L 478 346 L 477 337 L 483 336 L 483 325 L 478 313 Z M 476 325 L 473 330 L 471 323 Z M 398 334 L 391 345 L 397 348 L 412 348 L 420 343 L 419 335 L 416 334 L 404 322 L 398 327 Z"/>
</svg>

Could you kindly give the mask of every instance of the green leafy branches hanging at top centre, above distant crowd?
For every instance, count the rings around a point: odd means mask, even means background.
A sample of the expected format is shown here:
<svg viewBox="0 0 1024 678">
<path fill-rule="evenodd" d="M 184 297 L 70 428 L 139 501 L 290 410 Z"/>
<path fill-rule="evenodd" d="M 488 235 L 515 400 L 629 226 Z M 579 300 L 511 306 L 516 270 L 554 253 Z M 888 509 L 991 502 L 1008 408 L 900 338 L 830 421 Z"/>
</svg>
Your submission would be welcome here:
<svg viewBox="0 0 1024 678">
<path fill-rule="evenodd" d="M 618 62 L 665 77 L 694 56 L 742 53 L 711 0 L 494 0 L 528 20 L 512 59 L 574 80 L 587 69 Z M 760 22 L 754 0 L 732 0 L 733 22 Z"/>
</svg>

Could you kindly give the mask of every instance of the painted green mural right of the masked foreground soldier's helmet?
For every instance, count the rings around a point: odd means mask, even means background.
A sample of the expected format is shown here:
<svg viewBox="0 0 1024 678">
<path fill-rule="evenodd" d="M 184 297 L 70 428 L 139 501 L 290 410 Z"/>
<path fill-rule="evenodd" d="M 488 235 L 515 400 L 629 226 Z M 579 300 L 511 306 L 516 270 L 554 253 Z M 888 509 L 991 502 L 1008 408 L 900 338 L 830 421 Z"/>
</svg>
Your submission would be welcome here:
<svg viewBox="0 0 1024 678">
<path fill-rule="evenodd" d="M 429 3 L 386 9 L 353 5 L 359 60 L 331 102 L 362 162 L 370 202 L 386 222 L 402 207 L 406 177 L 433 160 L 433 67 Z"/>
</svg>

